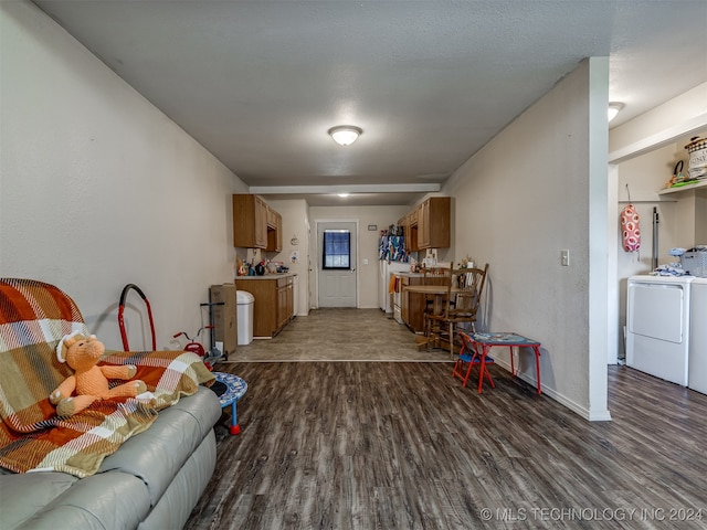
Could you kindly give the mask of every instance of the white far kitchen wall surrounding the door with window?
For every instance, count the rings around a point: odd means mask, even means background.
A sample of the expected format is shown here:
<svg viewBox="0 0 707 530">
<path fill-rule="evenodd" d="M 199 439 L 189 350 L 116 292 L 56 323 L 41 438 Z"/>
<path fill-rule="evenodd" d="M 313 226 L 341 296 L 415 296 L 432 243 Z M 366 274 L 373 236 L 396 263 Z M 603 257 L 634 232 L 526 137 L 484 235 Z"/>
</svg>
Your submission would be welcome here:
<svg viewBox="0 0 707 530">
<path fill-rule="evenodd" d="M 345 220 L 345 221 L 358 221 L 358 263 L 356 269 L 358 272 L 358 307 L 359 308 L 374 308 L 378 307 L 378 241 L 380 231 L 388 229 L 393 223 L 397 223 L 400 218 L 407 214 L 412 206 L 310 206 L 309 219 L 312 222 L 312 230 L 315 230 L 316 222 L 326 220 Z M 376 231 L 369 231 L 368 225 L 374 224 L 378 226 Z M 316 237 L 314 239 L 316 243 Z M 318 255 L 319 252 L 316 244 L 312 245 L 313 256 Z M 368 261 L 365 265 L 363 261 Z M 313 263 L 317 264 L 316 257 L 313 257 Z M 310 277 L 310 295 L 313 296 L 313 304 L 310 307 L 316 307 L 316 284 L 315 279 Z"/>
</svg>

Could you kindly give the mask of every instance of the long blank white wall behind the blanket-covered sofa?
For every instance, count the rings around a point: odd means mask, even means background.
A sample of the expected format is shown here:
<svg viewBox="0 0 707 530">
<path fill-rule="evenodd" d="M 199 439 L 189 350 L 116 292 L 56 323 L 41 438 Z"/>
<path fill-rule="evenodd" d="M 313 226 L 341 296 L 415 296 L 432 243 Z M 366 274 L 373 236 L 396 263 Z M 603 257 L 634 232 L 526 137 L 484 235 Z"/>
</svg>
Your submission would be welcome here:
<svg viewBox="0 0 707 530">
<path fill-rule="evenodd" d="M 57 285 L 114 349 L 135 283 L 175 348 L 233 279 L 231 193 L 246 187 L 34 4 L 0 12 L 0 275 Z M 138 317 L 133 349 L 149 346 Z"/>
</svg>

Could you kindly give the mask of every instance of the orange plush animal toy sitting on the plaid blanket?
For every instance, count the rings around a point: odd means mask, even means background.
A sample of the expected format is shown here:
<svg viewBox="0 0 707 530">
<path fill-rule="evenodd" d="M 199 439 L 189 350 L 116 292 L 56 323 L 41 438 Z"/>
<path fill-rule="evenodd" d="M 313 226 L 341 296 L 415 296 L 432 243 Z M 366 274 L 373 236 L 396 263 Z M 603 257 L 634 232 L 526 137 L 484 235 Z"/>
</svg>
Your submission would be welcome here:
<svg viewBox="0 0 707 530">
<path fill-rule="evenodd" d="M 66 362 L 74 369 L 68 377 L 50 395 L 50 401 L 56 405 L 56 414 L 71 416 L 76 414 L 94 401 L 110 398 L 135 398 L 145 392 L 144 381 L 130 381 L 118 386 L 108 388 L 108 379 L 130 379 L 137 372 L 134 364 L 122 367 L 97 367 L 105 347 L 95 336 L 84 337 L 77 331 L 65 335 L 56 346 L 56 357 L 60 362 Z M 76 393 L 76 395 L 72 395 Z"/>
</svg>

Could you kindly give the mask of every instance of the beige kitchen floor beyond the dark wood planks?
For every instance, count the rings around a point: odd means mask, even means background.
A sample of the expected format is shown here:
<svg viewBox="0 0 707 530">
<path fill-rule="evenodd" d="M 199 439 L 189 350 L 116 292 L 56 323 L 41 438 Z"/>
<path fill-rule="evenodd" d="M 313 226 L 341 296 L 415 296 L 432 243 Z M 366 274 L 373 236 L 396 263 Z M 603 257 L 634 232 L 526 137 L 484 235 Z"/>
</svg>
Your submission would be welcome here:
<svg viewBox="0 0 707 530">
<path fill-rule="evenodd" d="M 272 339 L 239 346 L 226 362 L 451 362 L 447 350 L 418 351 L 415 337 L 380 309 L 315 309 Z"/>
</svg>

